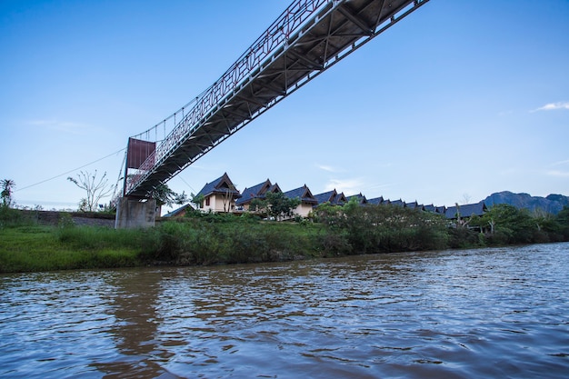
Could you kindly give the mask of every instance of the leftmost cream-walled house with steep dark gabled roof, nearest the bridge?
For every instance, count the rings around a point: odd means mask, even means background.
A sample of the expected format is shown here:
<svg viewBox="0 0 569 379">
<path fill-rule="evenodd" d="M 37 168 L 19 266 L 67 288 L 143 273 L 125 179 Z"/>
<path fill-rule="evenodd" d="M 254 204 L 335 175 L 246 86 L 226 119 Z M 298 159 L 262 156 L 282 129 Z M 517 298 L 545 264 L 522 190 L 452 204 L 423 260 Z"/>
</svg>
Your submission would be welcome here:
<svg viewBox="0 0 569 379">
<path fill-rule="evenodd" d="M 227 173 L 204 185 L 197 193 L 199 195 L 204 196 L 204 201 L 200 204 L 202 211 L 214 213 L 233 212 L 235 200 L 241 197 Z"/>
</svg>

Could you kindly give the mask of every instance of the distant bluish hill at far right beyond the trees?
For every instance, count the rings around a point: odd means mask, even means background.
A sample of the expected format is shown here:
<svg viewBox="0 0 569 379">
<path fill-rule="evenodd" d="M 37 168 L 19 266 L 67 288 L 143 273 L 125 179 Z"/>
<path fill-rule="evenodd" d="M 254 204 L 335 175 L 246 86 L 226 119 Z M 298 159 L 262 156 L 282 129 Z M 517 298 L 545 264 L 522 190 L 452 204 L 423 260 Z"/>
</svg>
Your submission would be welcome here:
<svg viewBox="0 0 569 379">
<path fill-rule="evenodd" d="M 558 214 L 564 205 L 569 205 L 569 196 L 564 196 L 563 194 L 548 194 L 546 197 L 541 197 L 503 191 L 491 194 L 483 201 L 487 207 L 494 204 L 510 204 L 516 208 L 527 208 L 530 211 L 541 209 L 550 214 Z"/>
</svg>

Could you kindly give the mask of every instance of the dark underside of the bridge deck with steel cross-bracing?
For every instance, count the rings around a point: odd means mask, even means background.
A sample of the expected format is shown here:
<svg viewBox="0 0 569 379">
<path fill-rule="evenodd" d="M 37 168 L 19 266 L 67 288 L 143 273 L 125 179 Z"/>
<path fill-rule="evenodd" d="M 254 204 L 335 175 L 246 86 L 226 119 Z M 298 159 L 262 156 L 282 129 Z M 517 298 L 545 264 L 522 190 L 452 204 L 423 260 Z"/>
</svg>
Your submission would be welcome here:
<svg viewBox="0 0 569 379">
<path fill-rule="evenodd" d="M 258 115 L 292 94 L 428 0 L 329 2 L 288 36 L 263 63 L 194 125 L 176 126 L 152 168 L 126 185 L 125 194 L 147 196 Z"/>
</svg>

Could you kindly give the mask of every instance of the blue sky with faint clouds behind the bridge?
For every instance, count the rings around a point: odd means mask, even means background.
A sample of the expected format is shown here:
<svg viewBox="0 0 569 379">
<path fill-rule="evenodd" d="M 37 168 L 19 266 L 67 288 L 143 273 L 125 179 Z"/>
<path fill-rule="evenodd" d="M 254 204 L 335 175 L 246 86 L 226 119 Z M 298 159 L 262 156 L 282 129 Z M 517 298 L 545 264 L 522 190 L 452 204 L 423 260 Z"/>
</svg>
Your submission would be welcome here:
<svg viewBox="0 0 569 379">
<path fill-rule="evenodd" d="M 201 94 L 289 1 L 2 0 L 0 179 L 76 209 L 129 136 Z M 476 203 L 569 195 L 569 1 L 431 0 L 171 179 Z M 106 198 L 105 201 L 110 200 Z M 168 208 L 164 210 L 167 212 Z"/>
</svg>

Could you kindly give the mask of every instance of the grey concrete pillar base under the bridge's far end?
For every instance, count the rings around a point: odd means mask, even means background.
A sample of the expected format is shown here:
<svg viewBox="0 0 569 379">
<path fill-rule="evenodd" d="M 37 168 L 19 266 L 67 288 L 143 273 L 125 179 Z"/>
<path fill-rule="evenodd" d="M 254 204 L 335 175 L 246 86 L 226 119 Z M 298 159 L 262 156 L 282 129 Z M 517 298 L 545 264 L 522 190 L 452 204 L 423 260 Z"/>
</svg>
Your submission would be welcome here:
<svg viewBox="0 0 569 379">
<path fill-rule="evenodd" d="M 115 229 L 145 228 L 155 225 L 155 199 L 121 197 L 116 204 Z"/>
</svg>

